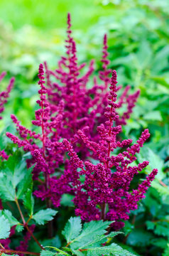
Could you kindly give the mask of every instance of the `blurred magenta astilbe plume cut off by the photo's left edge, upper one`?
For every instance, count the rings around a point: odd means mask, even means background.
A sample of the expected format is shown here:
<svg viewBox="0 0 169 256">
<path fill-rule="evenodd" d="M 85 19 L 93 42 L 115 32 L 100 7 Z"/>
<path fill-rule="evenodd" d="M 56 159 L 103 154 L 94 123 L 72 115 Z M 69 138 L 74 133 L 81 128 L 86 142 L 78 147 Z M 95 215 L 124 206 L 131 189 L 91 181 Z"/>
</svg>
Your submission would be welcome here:
<svg viewBox="0 0 169 256">
<path fill-rule="evenodd" d="M 6 75 L 6 72 L 1 73 L 0 82 L 5 75 Z M 9 98 L 9 93 L 11 92 L 14 81 L 15 81 L 15 78 L 11 78 L 11 80 L 9 81 L 9 85 L 6 87 L 6 90 L 4 92 L 0 92 L 0 114 L 4 111 L 4 105 Z M 0 119 L 2 119 L 1 116 L 0 116 Z"/>
</svg>

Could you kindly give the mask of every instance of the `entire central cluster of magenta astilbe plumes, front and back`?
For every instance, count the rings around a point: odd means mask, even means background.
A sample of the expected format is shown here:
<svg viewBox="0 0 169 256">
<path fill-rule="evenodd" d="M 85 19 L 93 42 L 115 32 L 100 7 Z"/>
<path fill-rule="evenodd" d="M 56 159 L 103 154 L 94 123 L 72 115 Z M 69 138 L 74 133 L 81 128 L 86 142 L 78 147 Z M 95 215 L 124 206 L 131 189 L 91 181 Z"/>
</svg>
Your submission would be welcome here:
<svg viewBox="0 0 169 256">
<path fill-rule="evenodd" d="M 143 161 L 138 166 L 131 166 L 150 134 L 146 129 L 133 146 L 129 146 L 131 139 L 121 142 L 117 135 L 121 132 L 120 124 L 126 124 L 126 119 L 129 119 L 139 91 L 128 95 L 130 87 L 127 86 L 119 103 L 116 103 L 116 92 L 120 87 L 116 87 L 115 70 L 112 71 L 111 80 L 109 78 L 111 70 L 107 67 L 106 35 L 103 70 L 99 72 L 102 85 L 94 78 L 94 86 L 88 89 L 89 75 L 94 69 L 93 61 L 87 73 L 80 77 L 84 64 L 77 65 L 70 14 L 67 24 L 67 57 L 62 57 L 55 72 L 50 71 L 45 63 L 46 86 L 43 64 L 39 66 L 40 100 L 37 103 L 40 109 L 36 110 L 36 120 L 32 123 L 40 128 L 40 132 L 23 127 L 12 114 L 21 139 L 9 132 L 6 135 L 18 147 L 23 147 L 23 151 L 31 153 L 27 165 L 29 168 L 35 164 L 33 179 L 40 184 L 34 195 L 45 200 L 48 207 L 52 203 L 55 207 L 60 206 L 62 194 L 70 193 L 75 196 L 75 213 L 83 220 L 115 220 L 114 228 L 121 228 L 123 223 L 119 221 L 128 219 L 130 210 L 137 208 L 138 201 L 143 198 L 157 173 L 154 169 L 146 181 L 130 191 L 134 174 L 148 165 L 148 161 Z M 52 82 L 51 75 L 59 83 Z M 110 81 L 110 92 L 107 92 Z M 127 110 L 119 117 L 118 109 L 124 104 Z M 70 161 L 65 150 L 69 151 Z"/>
</svg>

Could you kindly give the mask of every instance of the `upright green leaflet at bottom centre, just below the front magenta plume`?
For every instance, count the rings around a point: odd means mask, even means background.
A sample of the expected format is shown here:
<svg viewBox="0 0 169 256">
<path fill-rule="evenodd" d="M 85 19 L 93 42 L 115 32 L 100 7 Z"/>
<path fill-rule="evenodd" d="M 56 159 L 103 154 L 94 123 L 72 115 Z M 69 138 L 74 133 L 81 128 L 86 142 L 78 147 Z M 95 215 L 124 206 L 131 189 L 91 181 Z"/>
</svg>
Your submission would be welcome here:
<svg viewBox="0 0 169 256">
<path fill-rule="evenodd" d="M 64 230 L 62 231 L 62 235 L 65 236 L 67 242 L 72 241 L 77 235 L 80 234 L 82 230 L 82 222 L 80 217 L 70 218 L 65 225 Z"/>
</svg>

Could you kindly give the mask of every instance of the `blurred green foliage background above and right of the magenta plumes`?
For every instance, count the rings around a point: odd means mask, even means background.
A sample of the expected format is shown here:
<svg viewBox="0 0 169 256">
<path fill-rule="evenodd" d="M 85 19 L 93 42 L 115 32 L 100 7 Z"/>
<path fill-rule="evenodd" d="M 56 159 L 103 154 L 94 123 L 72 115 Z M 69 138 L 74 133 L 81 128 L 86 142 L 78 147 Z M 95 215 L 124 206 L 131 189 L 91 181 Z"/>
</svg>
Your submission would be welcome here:
<svg viewBox="0 0 169 256">
<path fill-rule="evenodd" d="M 38 65 L 47 60 L 50 69 L 55 70 L 60 56 L 65 54 L 68 11 L 79 63 L 89 64 L 94 58 L 97 75 L 102 68 L 102 38 L 107 33 L 110 67 L 117 70 L 119 83 L 131 85 L 131 92 L 141 90 L 138 104 L 123 129 L 124 137 L 136 141 L 144 128 L 150 129 L 151 139 L 141 152 L 141 159 L 151 161 L 151 167 L 158 168 L 159 174 L 136 212 L 136 221 L 126 224 L 126 246 L 134 247 L 141 255 L 160 256 L 165 250 L 163 255 L 168 256 L 168 0 L 1 0 L 0 72 L 8 73 L 1 90 L 11 75 L 16 82 L 0 129 L 7 125 L 11 129 L 11 113 L 31 127 L 38 98 Z M 0 143 L 2 149 L 5 142 L 4 139 Z M 159 225 L 153 224 L 154 220 Z M 140 222 L 146 225 L 137 229 Z"/>
</svg>

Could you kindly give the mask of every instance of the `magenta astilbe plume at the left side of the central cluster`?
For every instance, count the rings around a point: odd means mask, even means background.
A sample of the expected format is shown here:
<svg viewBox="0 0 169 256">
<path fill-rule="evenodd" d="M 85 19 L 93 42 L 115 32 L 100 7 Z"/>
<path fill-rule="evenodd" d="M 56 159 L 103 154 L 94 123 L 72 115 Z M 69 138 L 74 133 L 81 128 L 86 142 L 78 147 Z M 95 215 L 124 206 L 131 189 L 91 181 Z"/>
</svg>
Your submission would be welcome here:
<svg viewBox="0 0 169 256">
<path fill-rule="evenodd" d="M 24 151 L 31 153 L 32 158 L 27 159 L 27 164 L 28 167 L 35 164 L 33 168 L 33 179 L 40 181 L 39 189 L 34 194 L 42 200 L 48 198 L 55 206 L 59 206 L 62 189 L 58 190 L 58 193 L 53 192 L 50 183 L 53 183 L 53 186 L 57 186 L 58 178 L 53 176 L 53 174 L 55 174 L 55 171 L 63 162 L 62 144 L 59 140 L 60 131 L 62 130 L 64 104 L 61 101 L 55 107 L 55 112 L 51 111 L 50 103 L 46 100 L 45 96 L 47 89 L 45 88 L 43 64 L 39 65 L 38 78 L 38 85 L 40 85 L 38 94 L 40 95 L 40 100 L 37 100 L 37 103 L 40 108 L 36 110 L 36 119 L 32 123 L 36 127 L 39 127 L 40 132 L 32 132 L 26 127 L 23 127 L 12 114 L 11 119 L 16 124 L 16 129 L 21 139 L 9 132 L 6 132 L 6 136 L 13 143 L 17 144 L 18 147 L 23 147 Z M 39 175 L 42 173 L 44 179 L 40 180 Z"/>
</svg>

